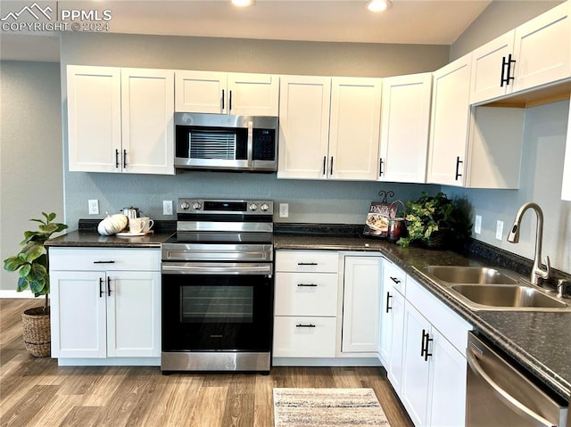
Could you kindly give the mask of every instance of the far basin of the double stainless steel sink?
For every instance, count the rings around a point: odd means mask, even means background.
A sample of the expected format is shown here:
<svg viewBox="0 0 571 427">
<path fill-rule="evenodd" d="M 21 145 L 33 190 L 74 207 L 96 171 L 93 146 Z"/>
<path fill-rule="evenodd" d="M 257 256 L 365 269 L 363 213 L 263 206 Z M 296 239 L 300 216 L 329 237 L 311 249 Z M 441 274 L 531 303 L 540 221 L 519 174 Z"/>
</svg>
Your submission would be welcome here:
<svg viewBox="0 0 571 427">
<path fill-rule="evenodd" d="M 516 284 L 517 279 L 509 277 L 491 267 L 428 266 L 426 272 L 448 283 Z"/>
</svg>

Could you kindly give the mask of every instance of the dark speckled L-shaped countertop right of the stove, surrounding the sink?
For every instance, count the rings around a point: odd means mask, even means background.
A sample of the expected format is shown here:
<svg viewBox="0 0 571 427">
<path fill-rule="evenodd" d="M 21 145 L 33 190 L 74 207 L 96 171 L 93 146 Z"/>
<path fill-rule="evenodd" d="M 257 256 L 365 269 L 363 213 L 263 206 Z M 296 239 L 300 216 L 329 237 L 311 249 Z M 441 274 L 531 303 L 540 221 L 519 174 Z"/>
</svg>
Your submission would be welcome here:
<svg viewBox="0 0 571 427">
<path fill-rule="evenodd" d="M 472 311 L 441 290 L 418 269 L 429 265 L 485 265 L 512 267 L 513 259 L 487 259 L 473 253 L 451 250 L 402 248 L 386 240 L 368 237 L 276 234 L 277 250 L 364 250 L 378 251 L 397 264 L 418 283 L 443 300 L 473 324 L 479 333 L 499 346 L 528 372 L 566 401 L 571 396 L 571 313 Z M 509 258 L 509 257 L 508 257 Z M 503 262 L 502 262 L 503 261 Z M 508 264 L 508 266 L 506 266 Z"/>
</svg>

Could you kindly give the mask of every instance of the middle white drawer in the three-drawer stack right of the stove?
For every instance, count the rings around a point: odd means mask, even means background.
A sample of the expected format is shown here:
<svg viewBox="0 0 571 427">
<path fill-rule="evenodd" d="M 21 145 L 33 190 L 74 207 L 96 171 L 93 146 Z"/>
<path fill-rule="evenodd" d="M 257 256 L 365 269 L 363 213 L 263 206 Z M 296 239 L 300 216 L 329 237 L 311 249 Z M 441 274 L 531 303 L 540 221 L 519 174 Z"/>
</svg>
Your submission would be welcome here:
<svg viewBox="0 0 571 427">
<path fill-rule="evenodd" d="M 336 316 L 337 275 L 277 273 L 276 316 Z"/>
</svg>

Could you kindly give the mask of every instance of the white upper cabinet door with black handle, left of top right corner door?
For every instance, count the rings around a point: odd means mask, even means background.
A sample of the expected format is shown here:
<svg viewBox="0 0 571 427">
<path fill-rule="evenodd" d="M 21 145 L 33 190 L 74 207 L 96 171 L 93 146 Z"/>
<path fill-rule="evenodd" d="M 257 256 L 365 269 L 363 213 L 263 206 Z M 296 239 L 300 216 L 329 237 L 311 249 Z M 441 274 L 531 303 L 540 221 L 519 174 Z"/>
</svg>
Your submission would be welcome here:
<svg viewBox="0 0 571 427">
<path fill-rule="evenodd" d="M 472 51 L 470 103 L 497 98 L 511 90 L 513 82 L 506 84 L 501 79 L 508 77 L 508 68 L 504 63 L 509 60 L 513 45 L 512 30 Z"/>
</svg>

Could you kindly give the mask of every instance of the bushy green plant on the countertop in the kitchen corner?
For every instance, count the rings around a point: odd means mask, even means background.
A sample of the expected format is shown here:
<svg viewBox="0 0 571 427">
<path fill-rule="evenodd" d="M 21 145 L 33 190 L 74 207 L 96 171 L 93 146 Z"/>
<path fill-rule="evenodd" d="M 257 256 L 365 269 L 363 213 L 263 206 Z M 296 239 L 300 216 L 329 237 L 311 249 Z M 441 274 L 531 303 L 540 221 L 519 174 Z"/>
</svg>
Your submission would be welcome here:
<svg viewBox="0 0 571 427">
<path fill-rule="evenodd" d="M 411 243 L 432 249 L 457 247 L 471 234 L 467 207 L 442 192 L 434 196 L 423 192 L 418 200 L 408 201 L 407 207 L 408 235 L 397 242 L 403 247 Z"/>
</svg>

